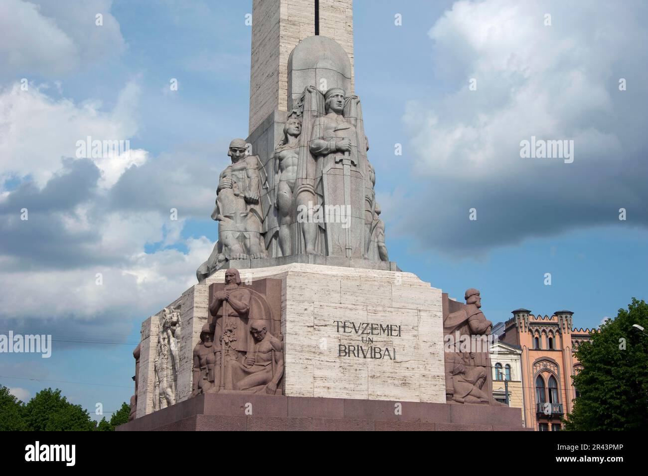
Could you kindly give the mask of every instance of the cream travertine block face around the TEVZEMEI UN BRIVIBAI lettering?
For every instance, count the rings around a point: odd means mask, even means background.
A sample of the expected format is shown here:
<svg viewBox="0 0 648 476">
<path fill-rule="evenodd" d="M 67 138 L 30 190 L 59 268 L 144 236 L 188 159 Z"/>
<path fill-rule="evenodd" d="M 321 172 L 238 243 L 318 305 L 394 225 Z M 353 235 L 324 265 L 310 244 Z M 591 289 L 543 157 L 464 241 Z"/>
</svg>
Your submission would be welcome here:
<svg viewBox="0 0 648 476">
<path fill-rule="evenodd" d="M 282 280 L 286 395 L 445 403 L 439 289 L 411 273 L 304 263 L 240 274 Z M 205 282 L 223 279 L 221 270 Z M 400 337 L 369 336 L 396 358 L 341 357 L 340 344 L 370 344 L 337 332 L 334 321 L 400 326 Z"/>
</svg>

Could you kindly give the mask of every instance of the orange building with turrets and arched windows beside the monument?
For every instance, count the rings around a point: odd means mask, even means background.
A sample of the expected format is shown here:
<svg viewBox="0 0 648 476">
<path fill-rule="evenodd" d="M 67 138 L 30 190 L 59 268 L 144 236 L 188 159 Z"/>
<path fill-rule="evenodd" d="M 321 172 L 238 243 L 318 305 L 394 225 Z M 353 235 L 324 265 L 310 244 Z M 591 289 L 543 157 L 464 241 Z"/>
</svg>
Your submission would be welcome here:
<svg viewBox="0 0 648 476">
<path fill-rule="evenodd" d="M 572 375 L 582 366 L 573 350 L 590 339 L 590 330 L 573 329 L 572 315 L 556 311 L 542 317 L 516 309 L 499 335 L 500 341 L 522 349 L 524 422 L 537 431 L 561 430 L 561 420 L 572 411 L 577 395 Z"/>
</svg>

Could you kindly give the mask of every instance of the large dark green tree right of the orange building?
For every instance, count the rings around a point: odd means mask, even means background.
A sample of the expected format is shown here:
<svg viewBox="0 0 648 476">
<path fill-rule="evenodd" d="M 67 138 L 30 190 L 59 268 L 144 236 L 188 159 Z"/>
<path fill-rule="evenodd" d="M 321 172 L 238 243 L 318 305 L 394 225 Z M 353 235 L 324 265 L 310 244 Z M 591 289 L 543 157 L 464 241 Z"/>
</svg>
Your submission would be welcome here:
<svg viewBox="0 0 648 476">
<path fill-rule="evenodd" d="M 648 304 L 632 298 L 579 346 L 583 370 L 573 377 L 579 390 L 566 430 L 648 429 L 648 337 L 632 324 L 648 328 Z"/>
</svg>

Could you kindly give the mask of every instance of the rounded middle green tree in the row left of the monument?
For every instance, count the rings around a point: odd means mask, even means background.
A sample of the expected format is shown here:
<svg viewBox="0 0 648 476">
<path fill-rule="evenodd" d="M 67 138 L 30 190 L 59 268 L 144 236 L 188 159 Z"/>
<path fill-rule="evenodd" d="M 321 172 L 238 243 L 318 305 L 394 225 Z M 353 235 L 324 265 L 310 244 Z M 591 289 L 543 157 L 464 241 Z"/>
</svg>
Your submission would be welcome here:
<svg viewBox="0 0 648 476">
<path fill-rule="evenodd" d="M 92 431 L 95 422 L 81 405 L 61 396 L 61 390 L 41 390 L 24 407 L 24 418 L 32 431 Z"/>
</svg>

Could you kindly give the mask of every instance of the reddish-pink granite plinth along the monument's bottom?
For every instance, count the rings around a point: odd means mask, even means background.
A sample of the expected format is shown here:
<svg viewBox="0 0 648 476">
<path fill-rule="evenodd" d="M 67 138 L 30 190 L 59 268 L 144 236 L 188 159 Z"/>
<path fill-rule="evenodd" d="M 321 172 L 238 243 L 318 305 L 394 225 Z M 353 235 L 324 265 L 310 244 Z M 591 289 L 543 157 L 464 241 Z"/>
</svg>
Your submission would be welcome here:
<svg viewBox="0 0 648 476">
<path fill-rule="evenodd" d="M 249 405 L 251 403 L 251 414 Z M 522 411 L 494 405 L 210 394 L 182 401 L 117 431 L 524 431 Z M 248 409 L 248 414 L 246 414 Z"/>
</svg>

